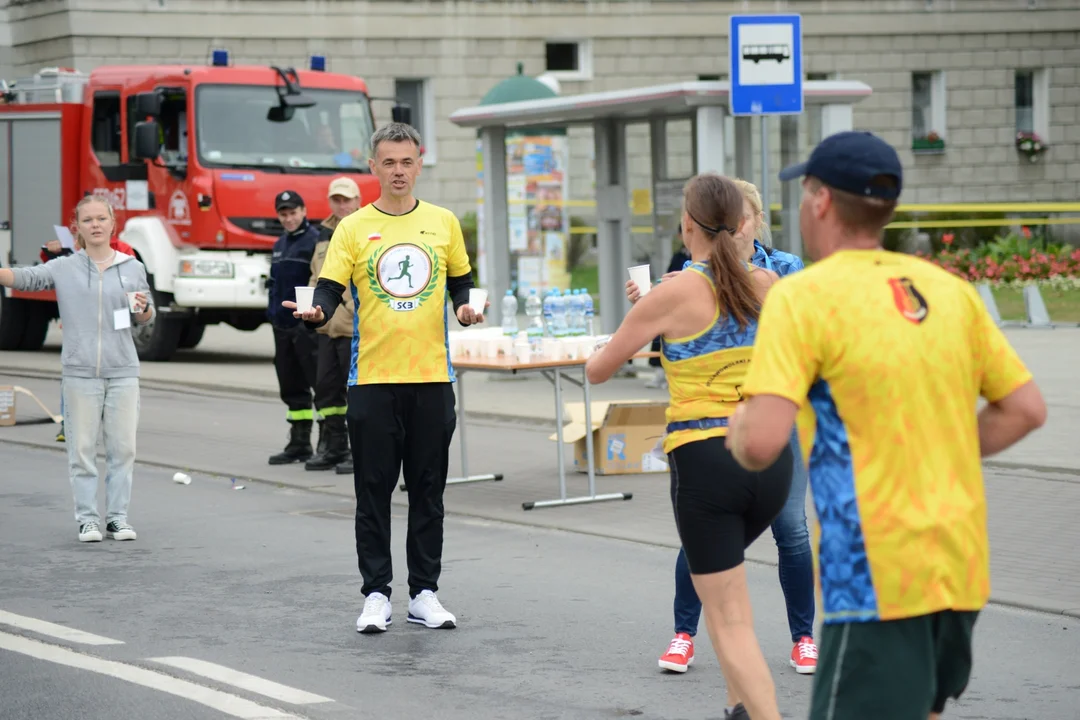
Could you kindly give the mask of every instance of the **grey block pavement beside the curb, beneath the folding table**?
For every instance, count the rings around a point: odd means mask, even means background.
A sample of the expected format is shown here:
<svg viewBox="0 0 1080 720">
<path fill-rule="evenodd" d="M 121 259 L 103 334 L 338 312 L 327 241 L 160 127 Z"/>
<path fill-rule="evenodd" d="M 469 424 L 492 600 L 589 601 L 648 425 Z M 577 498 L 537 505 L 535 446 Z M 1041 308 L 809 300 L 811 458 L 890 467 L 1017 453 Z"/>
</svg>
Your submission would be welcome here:
<svg viewBox="0 0 1080 720">
<path fill-rule="evenodd" d="M 58 406 L 59 383 L 54 379 L 16 378 L 0 371 L 0 384 L 16 382 L 35 392 L 46 406 L 53 409 Z M 0 429 L 0 458 L 3 441 L 62 451 L 63 446 L 53 439 L 55 426 L 32 422 L 41 417 L 40 410 L 31 406 L 19 413 L 18 425 Z M 505 479 L 448 487 L 447 512 L 469 515 L 477 521 L 513 522 L 678 547 L 666 474 L 597 477 L 598 493 L 632 492 L 630 501 L 523 511 L 523 502 L 558 495 L 555 446 L 548 439 L 549 434 L 550 430 L 535 419 L 508 422 L 470 418 L 470 471 L 502 473 Z M 451 476 L 460 474 L 459 439 L 460 433 L 456 434 L 450 450 Z M 298 465 L 267 464 L 267 457 L 280 450 L 284 440 L 283 412 L 274 398 L 253 393 L 144 386 L 140 462 L 188 472 L 195 483 L 228 484 L 237 478 L 241 484 L 261 481 L 326 493 L 340 499 L 340 514 L 351 514 L 351 477 L 305 472 Z M 1080 524 L 1076 522 L 1080 515 L 1080 474 L 989 468 L 986 491 L 993 599 L 1080 616 L 1080 554 L 1075 552 L 1080 546 Z M 586 476 L 573 472 L 569 459 L 567 492 L 569 497 L 588 493 Z M 137 494 L 136 488 L 136 505 Z M 404 493 L 395 493 L 396 505 L 406 502 Z M 808 514 L 812 517 L 809 507 Z M 754 543 L 747 557 L 775 565 L 771 533 Z M 673 570 L 674 561 L 673 552 Z M 672 579 L 648 578 L 642 582 L 671 585 Z"/>
</svg>

